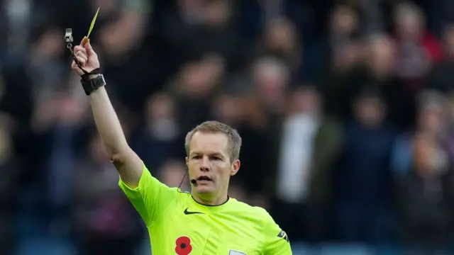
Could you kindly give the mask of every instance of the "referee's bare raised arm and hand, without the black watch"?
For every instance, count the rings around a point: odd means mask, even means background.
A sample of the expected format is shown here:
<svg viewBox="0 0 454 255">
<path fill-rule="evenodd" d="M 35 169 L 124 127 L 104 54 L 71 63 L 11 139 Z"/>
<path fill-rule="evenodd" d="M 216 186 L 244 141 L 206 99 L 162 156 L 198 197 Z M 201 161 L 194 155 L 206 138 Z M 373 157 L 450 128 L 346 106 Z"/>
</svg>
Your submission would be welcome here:
<svg viewBox="0 0 454 255">
<path fill-rule="evenodd" d="M 92 45 L 90 45 L 88 38 L 82 39 L 80 45 L 74 47 L 74 55 L 76 55 L 77 60 L 79 60 L 85 71 L 92 72 L 94 69 L 99 68 L 98 56 L 94 52 Z M 77 74 L 81 76 L 84 74 L 75 62 L 72 62 L 71 67 Z M 92 74 L 89 78 L 94 79 L 99 75 Z M 120 174 L 121 180 L 130 188 L 137 187 L 143 172 L 143 162 L 126 142 L 120 121 L 109 100 L 106 89 L 101 86 L 99 89 L 92 91 L 89 94 L 89 98 L 96 128 L 104 142 L 107 154 Z"/>
</svg>

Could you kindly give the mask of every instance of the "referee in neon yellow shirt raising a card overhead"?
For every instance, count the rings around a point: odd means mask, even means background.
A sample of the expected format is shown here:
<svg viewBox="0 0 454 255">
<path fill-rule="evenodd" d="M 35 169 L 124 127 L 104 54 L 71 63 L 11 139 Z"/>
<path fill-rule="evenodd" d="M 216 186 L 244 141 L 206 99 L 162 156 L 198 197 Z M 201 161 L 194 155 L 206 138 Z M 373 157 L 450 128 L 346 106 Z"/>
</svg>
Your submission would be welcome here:
<svg viewBox="0 0 454 255">
<path fill-rule="evenodd" d="M 99 60 L 88 38 L 74 47 L 74 72 L 82 77 L 96 127 L 120 174 L 119 185 L 145 221 L 157 255 L 288 255 L 287 234 L 266 210 L 227 195 L 230 177 L 240 169 L 241 137 L 223 123 L 201 123 L 184 147 L 192 192 L 169 188 L 151 176 L 128 146 L 120 122 L 96 72 Z"/>
</svg>

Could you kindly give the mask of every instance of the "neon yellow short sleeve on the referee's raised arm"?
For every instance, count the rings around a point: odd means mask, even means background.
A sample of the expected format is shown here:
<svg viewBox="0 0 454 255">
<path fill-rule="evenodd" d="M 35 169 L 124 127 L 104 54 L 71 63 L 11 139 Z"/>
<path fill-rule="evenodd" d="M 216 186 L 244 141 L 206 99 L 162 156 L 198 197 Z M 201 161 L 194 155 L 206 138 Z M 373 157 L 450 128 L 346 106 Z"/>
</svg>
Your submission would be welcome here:
<svg viewBox="0 0 454 255">
<path fill-rule="evenodd" d="M 152 227 L 165 213 L 167 207 L 177 198 L 178 191 L 151 176 L 145 165 L 139 185 L 136 188 L 129 188 L 121 179 L 118 185 L 145 221 L 147 227 Z"/>
</svg>

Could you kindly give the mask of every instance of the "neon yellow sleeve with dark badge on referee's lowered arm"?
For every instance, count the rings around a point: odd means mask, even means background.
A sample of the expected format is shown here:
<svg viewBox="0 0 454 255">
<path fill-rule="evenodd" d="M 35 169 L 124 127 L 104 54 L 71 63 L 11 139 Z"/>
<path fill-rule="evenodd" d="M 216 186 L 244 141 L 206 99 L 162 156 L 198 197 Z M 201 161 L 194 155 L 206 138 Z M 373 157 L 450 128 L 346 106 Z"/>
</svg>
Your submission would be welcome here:
<svg viewBox="0 0 454 255">
<path fill-rule="evenodd" d="M 290 247 L 287 233 L 275 223 L 268 213 L 263 234 L 265 235 L 263 255 L 292 255 L 292 248 Z"/>
</svg>

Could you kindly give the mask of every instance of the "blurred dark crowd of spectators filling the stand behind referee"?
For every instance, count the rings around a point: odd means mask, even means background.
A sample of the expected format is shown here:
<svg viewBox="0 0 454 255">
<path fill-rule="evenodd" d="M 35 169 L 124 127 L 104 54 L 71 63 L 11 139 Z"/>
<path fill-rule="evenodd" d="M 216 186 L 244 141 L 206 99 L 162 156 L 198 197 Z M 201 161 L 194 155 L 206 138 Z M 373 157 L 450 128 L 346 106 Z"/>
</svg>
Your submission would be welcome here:
<svg viewBox="0 0 454 255">
<path fill-rule="evenodd" d="M 221 120 L 244 140 L 231 196 L 294 254 L 449 254 L 450 0 L 1 1 L 0 254 L 150 252 L 63 42 L 98 6 L 107 89 L 160 180 Z"/>
</svg>

